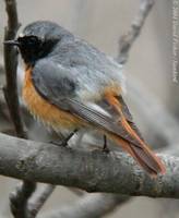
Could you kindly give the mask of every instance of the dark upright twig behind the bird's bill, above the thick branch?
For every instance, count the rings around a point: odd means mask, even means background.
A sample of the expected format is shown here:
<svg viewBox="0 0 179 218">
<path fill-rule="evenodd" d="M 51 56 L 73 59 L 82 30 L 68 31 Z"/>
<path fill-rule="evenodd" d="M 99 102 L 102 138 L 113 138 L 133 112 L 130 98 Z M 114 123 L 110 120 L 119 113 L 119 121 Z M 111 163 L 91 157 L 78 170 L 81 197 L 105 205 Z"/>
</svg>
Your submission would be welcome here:
<svg viewBox="0 0 179 218">
<path fill-rule="evenodd" d="M 5 27 L 4 40 L 13 39 L 19 29 L 19 20 L 16 12 L 16 2 L 14 0 L 5 0 L 7 14 L 8 14 L 8 26 Z M 16 85 L 16 68 L 17 68 L 17 56 L 16 50 L 13 47 L 4 47 L 4 70 L 7 75 L 7 86 L 4 87 L 4 94 L 9 111 L 11 114 L 12 122 L 16 135 L 19 137 L 26 138 L 26 134 L 23 130 L 23 124 L 20 113 L 20 105 L 17 97 L 17 85 Z"/>
</svg>

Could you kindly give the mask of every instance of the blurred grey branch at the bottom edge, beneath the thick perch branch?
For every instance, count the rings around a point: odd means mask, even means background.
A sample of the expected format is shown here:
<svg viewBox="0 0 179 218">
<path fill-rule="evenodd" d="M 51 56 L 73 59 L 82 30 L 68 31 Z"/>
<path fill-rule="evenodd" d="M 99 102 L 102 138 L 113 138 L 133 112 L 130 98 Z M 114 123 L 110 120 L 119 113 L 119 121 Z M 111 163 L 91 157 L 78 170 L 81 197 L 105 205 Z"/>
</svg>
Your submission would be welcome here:
<svg viewBox="0 0 179 218">
<path fill-rule="evenodd" d="M 40 218 L 98 218 L 103 217 L 129 199 L 129 196 L 115 194 L 85 194 L 72 205 L 64 206 L 58 210 L 46 213 Z"/>
</svg>

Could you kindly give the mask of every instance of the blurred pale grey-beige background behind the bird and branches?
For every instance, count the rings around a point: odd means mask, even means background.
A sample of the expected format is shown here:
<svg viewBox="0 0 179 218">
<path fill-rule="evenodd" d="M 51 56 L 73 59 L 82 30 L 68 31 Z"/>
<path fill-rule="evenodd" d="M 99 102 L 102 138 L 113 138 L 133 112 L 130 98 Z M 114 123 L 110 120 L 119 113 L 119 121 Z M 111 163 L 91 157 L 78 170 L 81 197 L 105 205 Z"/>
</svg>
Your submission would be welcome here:
<svg viewBox="0 0 179 218">
<path fill-rule="evenodd" d="M 17 0 L 22 27 L 37 20 L 55 21 L 114 58 L 118 55 L 119 37 L 129 31 L 139 7 L 140 0 Z M 7 24 L 3 1 L 0 1 L 0 14 L 2 65 L 3 29 Z M 178 149 L 177 144 L 179 146 L 179 84 L 172 81 L 171 33 L 172 1 L 157 0 L 130 51 L 123 73 L 127 76 L 126 99 L 144 137 L 155 148 L 175 153 L 174 150 Z M 2 87 L 4 76 L 2 69 L 0 70 Z M 22 73 L 19 77 L 21 82 Z M 9 114 L 2 104 L 2 93 L 0 95 L 0 131 L 11 133 Z M 26 117 L 24 118 L 31 138 L 45 141 L 44 128 Z M 38 134 L 35 134 L 36 131 Z M 8 198 L 15 183 L 12 179 L 0 177 L 1 217 L 10 217 Z M 77 198 L 79 196 L 70 190 L 58 187 L 44 210 L 73 204 Z M 179 202 L 174 199 L 133 197 L 105 217 L 175 218 L 179 217 L 178 204 Z"/>
</svg>

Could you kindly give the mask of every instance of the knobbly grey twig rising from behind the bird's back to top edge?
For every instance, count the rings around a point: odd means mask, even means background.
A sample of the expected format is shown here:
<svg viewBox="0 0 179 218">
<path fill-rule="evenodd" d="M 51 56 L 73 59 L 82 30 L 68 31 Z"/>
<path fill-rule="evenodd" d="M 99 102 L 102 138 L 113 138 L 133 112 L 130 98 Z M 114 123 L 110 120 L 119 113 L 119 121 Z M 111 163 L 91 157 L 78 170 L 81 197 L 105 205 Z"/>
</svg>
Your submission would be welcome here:
<svg viewBox="0 0 179 218">
<path fill-rule="evenodd" d="M 119 39 L 118 62 L 124 64 L 128 60 L 130 48 L 141 33 L 144 22 L 153 8 L 155 0 L 141 0 L 140 11 L 132 22 L 129 32 Z"/>
</svg>

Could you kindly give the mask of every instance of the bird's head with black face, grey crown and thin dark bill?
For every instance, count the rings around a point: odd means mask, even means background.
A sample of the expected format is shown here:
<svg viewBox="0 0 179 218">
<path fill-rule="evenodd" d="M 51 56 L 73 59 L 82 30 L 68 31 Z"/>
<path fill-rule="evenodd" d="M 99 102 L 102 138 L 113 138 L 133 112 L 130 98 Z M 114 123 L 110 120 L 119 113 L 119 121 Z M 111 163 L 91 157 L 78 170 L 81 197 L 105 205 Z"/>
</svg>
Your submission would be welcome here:
<svg viewBox="0 0 179 218">
<path fill-rule="evenodd" d="M 34 64 L 40 58 L 48 56 L 61 38 L 69 34 L 53 22 L 37 21 L 27 25 L 16 39 L 4 44 L 17 46 L 25 63 Z"/>
</svg>

